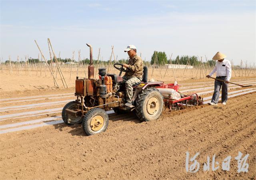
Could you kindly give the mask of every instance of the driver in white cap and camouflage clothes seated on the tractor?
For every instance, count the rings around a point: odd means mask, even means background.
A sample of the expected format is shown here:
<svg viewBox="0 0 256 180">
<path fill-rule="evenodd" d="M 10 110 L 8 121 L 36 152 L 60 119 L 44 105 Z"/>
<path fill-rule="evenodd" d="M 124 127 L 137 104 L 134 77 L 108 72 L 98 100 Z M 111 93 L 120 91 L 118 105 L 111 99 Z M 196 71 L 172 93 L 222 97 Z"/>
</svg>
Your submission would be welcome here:
<svg viewBox="0 0 256 180">
<path fill-rule="evenodd" d="M 127 52 L 130 59 L 128 60 L 128 64 L 124 64 L 124 67 L 130 68 L 128 72 L 124 74 L 122 83 L 125 83 L 126 89 L 126 103 L 125 105 L 128 107 L 134 107 L 132 105 L 132 96 L 133 96 L 133 86 L 142 81 L 143 75 L 143 61 L 140 56 L 137 55 L 137 49 L 135 45 L 128 45 L 124 50 Z M 118 85 L 119 89 L 119 85 Z"/>
</svg>

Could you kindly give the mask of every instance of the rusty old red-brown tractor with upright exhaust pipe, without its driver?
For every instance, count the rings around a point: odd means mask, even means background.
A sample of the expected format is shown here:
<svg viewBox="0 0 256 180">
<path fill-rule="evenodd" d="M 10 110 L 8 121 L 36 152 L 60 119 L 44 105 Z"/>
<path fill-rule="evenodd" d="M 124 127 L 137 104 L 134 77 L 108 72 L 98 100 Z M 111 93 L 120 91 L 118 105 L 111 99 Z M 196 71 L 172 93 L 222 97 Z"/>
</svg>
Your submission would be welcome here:
<svg viewBox="0 0 256 180">
<path fill-rule="evenodd" d="M 123 81 L 122 72 L 131 71 L 120 63 L 115 63 L 119 75 L 108 74 L 106 68 L 98 69 L 99 79 L 94 79 L 92 46 L 90 47 L 90 64 L 88 78 L 76 77 L 76 99 L 67 103 L 62 109 L 62 119 L 67 125 L 82 123 L 87 135 L 94 135 L 106 131 L 108 127 L 107 111 L 114 110 L 117 114 L 135 111 L 140 121 L 154 121 L 162 113 L 164 97 L 156 87 L 164 86 L 164 82 L 148 82 L 148 69 L 144 67 L 142 82 L 134 85 L 132 104 L 126 107 L 125 85 L 118 91 L 115 87 Z M 122 84 L 122 83 L 121 83 Z"/>
</svg>

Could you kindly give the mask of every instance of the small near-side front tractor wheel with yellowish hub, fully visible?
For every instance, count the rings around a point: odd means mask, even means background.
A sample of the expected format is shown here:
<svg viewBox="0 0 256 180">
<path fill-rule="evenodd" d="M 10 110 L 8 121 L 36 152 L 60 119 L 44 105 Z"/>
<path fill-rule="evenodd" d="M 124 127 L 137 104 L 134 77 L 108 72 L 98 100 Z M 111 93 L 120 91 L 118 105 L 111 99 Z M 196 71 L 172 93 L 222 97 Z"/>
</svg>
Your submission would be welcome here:
<svg viewBox="0 0 256 180">
<path fill-rule="evenodd" d="M 86 135 L 95 135 L 108 128 L 108 114 L 101 108 L 89 110 L 83 119 L 83 130 Z"/>
</svg>

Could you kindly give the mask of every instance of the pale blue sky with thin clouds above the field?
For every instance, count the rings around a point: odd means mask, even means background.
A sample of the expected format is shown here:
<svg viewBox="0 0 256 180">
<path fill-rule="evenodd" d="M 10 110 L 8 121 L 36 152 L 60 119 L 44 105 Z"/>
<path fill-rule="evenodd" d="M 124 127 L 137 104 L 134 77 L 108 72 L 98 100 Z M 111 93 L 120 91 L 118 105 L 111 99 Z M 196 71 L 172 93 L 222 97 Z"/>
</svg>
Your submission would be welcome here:
<svg viewBox="0 0 256 180">
<path fill-rule="evenodd" d="M 180 1 L 6 1 L 0 0 L 0 57 L 36 58 L 37 40 L 49 58 L 47 38 L 61 57 L 108 60 L 111 45 L 118 59 L 136 45 L 142 58 L 154 50 L 177 55 L 207 56 L 221 51 L 234 64 L 256 62 L 256 0 Z"/>
</svg>

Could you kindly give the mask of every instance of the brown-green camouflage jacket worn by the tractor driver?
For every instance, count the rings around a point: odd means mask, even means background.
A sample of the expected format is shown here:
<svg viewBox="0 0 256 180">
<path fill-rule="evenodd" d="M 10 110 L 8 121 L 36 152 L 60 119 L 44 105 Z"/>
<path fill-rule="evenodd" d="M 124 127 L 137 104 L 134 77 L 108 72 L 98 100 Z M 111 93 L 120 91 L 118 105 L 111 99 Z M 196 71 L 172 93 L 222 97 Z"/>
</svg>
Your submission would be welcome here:
<svg viewBox="0 0 256 180">
<path fill-rule="evenodd" d="M 140 77 L 143 75 L 143 61 L 137 54 L 128 60 L 128 65 L 132 71 L 125 73 L 126 77 Z"/>
</svg>

